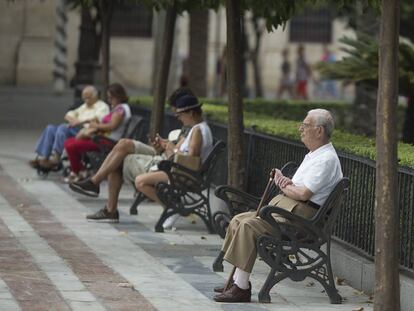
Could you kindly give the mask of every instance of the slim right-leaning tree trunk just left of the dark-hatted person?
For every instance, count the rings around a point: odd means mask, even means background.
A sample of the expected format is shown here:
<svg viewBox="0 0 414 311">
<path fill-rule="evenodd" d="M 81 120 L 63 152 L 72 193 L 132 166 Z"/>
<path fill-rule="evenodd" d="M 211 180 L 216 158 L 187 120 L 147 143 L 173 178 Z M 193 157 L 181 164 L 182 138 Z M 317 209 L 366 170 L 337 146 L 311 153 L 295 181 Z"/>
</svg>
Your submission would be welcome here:
<svg viewBox="0 0 414 311">
<path fill-rule="evenodd" d="M 155 137 L 155 134 L 162 131 L 176 17 L 177 10 L 174 2 L 174 4 L 167 9 L 167 15 L 165 17 L 164 38 L 162 40 L 161 48 L 161 65 L 159 66 L 157 75 L 158 78 L 155 85 L 154 103 L 151 113 L 150 137 Z"/>
</svg>

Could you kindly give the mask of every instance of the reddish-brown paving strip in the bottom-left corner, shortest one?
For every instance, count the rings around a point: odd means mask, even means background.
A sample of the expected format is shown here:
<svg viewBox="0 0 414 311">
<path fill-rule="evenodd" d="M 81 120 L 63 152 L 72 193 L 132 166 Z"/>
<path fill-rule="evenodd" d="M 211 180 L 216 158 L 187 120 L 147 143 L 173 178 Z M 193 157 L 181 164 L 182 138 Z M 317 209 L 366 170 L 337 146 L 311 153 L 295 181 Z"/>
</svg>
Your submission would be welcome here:
<svg viewBox="0 0 414 311">
<path fill-rule="evenodd" d="M 0 219 L 0 277 L 22 310 L 70 310 L 33 257 Z M 1 307 L 0 307 L 1 309 Z"/>
</svg>

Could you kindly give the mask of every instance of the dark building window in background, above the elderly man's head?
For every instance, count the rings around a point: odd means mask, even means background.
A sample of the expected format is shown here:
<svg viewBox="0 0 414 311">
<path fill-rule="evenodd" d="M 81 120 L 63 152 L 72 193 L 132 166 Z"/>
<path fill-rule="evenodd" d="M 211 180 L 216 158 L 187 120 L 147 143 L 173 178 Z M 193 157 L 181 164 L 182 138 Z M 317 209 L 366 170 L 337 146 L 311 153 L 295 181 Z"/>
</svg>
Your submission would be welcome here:
<svg viewBox="0 0 414 311">
<path fill-rule="evenodd" d="M 290 22 L 290 42 L 331 43 L 332 19 L 330 9 L 306 9 Z"/>
</svg>

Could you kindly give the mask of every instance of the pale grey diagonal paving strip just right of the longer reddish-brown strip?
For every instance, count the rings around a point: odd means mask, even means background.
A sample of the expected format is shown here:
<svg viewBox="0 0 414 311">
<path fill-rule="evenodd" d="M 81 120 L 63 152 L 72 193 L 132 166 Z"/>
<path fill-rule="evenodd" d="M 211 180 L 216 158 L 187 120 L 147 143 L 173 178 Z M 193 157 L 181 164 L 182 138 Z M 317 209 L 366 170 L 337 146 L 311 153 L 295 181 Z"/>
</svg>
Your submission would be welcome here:
<svg viewBox="0 0 414 311">
<path fill-rule="evenodd" d="M 32 188 L 32 185 L 30 187 L 28 185 L 28 190 L 30 190 L 29 188 Z M 53 185 L 48 188 L 48 191 L 53 191 L 54 193 L 61 191 Z M 58 219 L 66 221 L 66 219 L 70 219 L 71 217 L 77 217 L 79 221 L 85 221 L 81 215 L 75 216 L 68 212 L 67 206 L 49 205 L 50 201 L 48 200 L 47 193 L 39 192 L 39 189 L 36 189 L 37 197 L 42 202 L 42 205 L 48 207 Z M 62 196 L 66 196 L 66 194 L 62 193 Z M 70 201 L 70 206 L 77 208 L 76 205 L 79 204 L 78 202 L 70 199 L 70 197 L 68 200 Z M 72 228 L 72 223 L 74 224 L 74 222 L 67 222 L 66 224 Z M 96 239 L 96 230 L 102 232 L 99 235 L 99 239 Z M 76 231 L 76 233 L 98 254 L 99 258 L 110 264 L 118 273 L 125 276 L 157 309 L 170 310 L 172 305 L 176 305 L 177 303 L 176 297 L 189 296 L 198 301 L 202 310 L 216 309 L 211 300 L 201 295 L 168 268 L 143 252 L 131 242 L 129 237 L 121 235 L 112 225 L 90 223 L 83 231 Z M 102 243 L 100 241 L 101 239 L 111 239 L 111 247 L 108 248 L 108 244 Z M 160 286 L 160 279 L 162 279 L 162 286 Z M 170 297 L 170 299 L 166 300 L 166 304 L 164 304 L 164 300 L 155 299 L 158 297 Z M 193 305 L 188 302 L 188 298 L 186 299 L 187 303 L 180 303 L 179 310 L 193 310 Z M 160 305 L 157 304 L 158 302 Z M 174 303 L 172 304 L 172 302 Z"/>
</svg>

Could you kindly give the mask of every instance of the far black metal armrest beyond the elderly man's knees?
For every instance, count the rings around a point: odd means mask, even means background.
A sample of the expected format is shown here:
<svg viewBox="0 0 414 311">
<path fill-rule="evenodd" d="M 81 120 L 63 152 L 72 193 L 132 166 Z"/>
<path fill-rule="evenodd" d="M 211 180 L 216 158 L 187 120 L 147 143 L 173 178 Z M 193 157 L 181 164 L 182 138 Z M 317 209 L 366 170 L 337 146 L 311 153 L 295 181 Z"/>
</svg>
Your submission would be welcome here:
<svg viewBox="0 0 414 311">
<path fill-rule="evenodd" d="M 237 212 L 247 212 L 249 210 L 257 209 L 257 206 L 260 203 L 259 197 L 228 185 L 217 187 L 214 193 L 226 203 L 231 216 L 234 216 Z M 238 207 L 242 206 L 243 208 L 237 208 L 236 211 L 235 205 Z"/>
</svg>

